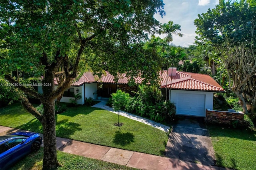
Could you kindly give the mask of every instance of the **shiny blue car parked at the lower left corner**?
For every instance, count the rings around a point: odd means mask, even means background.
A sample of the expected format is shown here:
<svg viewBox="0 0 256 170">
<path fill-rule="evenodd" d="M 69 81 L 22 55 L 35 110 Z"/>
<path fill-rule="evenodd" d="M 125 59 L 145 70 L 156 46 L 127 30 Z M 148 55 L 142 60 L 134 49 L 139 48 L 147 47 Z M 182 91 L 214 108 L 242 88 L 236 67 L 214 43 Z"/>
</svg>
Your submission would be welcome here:
<svg viewBox="0 0 256 170">
<path fill-rule="evenodd" d="M 14 162 L 40 149 L 42 137 L 38 133 L 16 132 L 0 136 L 0 169 L 4 170 Z"/>
</svg>

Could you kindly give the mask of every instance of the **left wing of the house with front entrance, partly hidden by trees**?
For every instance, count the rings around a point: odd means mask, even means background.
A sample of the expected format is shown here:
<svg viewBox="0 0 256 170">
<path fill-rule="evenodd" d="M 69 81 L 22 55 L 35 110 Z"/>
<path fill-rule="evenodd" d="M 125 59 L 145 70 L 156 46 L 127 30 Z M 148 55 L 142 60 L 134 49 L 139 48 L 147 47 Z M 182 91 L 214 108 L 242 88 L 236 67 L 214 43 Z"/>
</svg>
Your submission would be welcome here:
<svg viewBox="0 0 256 170">
<path fill-rule="evenodd" d="M 86 98 L 88 99 L 91 97 L 92 99 L 97 99 L 97 95 L 100 95 L 101 97 L 110 97 L 112 93 L 116 93 L 117 89 L 121 89 L 122 91 L 126 91 L 130 94 L 132 94 L 132 91 L 137 90 L 137 86 L 128 85 L 128 78 L 126 77 L 126 74 L 121 74 L 117 83 L 114 81 L 114 76 L 108 71 L 106 71 L 106 74 L 102 75 L 100 80 L 97 80 L 98 79 L 95 78 L 91 72 L 84 73 L 77 81 L 71 83 L 70 88 L 64 91 L 63 97 L 60 101 L 68 103 L 70 98 L 81 93 L 82 98 L 79 99 L 77 103 L 82 105 L 85 103 Z M 135 82 L 141 84 L 142 79 L 136 78 Z M 57 89 L 58 83 L 56 79 L 54 80 L 54 84 L 54 88 Z M 102 89 L 101 92 L 99 92 L 98 89 Z"/>
</svg>

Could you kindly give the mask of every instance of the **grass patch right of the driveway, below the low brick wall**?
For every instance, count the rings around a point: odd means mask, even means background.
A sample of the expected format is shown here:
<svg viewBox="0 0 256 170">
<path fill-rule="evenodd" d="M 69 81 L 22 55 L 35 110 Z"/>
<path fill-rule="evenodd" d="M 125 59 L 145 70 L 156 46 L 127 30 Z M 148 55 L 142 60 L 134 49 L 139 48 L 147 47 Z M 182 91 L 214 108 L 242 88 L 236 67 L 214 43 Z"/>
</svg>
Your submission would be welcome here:
<svg viewBox="0 0 256 170">
<path fill-rule="evenodd" d="M 212 139 L 216 166 L 256 170 L 256 130 L 221 126 L 207 127 Z"/>
</svg>

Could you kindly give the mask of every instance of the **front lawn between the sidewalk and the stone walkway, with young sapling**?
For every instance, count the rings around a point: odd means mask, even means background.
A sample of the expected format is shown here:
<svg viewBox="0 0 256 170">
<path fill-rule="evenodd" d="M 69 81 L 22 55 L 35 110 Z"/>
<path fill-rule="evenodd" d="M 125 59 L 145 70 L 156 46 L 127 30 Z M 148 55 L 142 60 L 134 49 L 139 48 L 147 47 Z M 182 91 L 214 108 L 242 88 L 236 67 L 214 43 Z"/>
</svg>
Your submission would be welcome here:
<svg viewBox="0 0 256 170">
<path fill-rule="evenodd" d="M 56 136 L 163 156 L 166 132 L 98 108 L 79 106 L 56 115 Z M 42 125 L 15 103 L 1 109 L 0 125 L 42 133 Z"/>
</svg>

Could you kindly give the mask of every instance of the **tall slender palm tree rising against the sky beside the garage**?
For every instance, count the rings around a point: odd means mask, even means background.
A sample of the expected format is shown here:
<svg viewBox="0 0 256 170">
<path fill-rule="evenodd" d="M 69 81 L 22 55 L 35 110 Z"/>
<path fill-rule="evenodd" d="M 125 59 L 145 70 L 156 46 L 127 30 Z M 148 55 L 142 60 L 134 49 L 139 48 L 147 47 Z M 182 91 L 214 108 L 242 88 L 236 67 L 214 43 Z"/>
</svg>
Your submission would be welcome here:
<svg viewBox="0 0 256 170">
<path fill-rule="evenodd" d="M 173 38 L 172 35 L 176 35 L 179 37 L 182 37 L 183 34 L 181 34 L 180 32 L 177 31 L 181 31 L 181 26 L 179 24 L 174 24 L 173 21 L 169 21 L 168 23 L 165 23 L 162 25 L 162 33 L 167 34 L 167 36 L 164 38 L 166 42 L 168 42 L 168 46 L 169 43 L 172 42 Z M 167 56 L 167 58 L 170 56 Z M 168 71 L 168 59 L 167 59 L 167 69 L 166 71 Z M 167 81 L 168 81 L 168 74 L 166 76 L 166 101 L 168 100 L 167 97 Z"/>
</svg>

